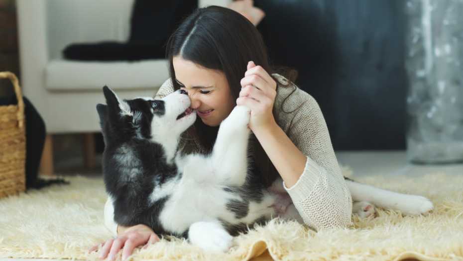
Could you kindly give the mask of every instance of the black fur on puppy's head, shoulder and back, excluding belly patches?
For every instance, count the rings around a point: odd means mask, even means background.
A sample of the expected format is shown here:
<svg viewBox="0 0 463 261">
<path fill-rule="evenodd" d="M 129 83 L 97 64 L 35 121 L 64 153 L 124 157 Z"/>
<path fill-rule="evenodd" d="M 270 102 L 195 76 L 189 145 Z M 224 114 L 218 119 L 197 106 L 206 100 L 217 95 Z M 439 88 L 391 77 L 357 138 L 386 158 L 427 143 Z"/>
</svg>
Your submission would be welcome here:
<svg viewBox="0 0 463 261">
<path fill-rule="evenodd" d="M 165 231 L 156 217 L 162 209 L 166 198 L 153 205 L 148 205 L 148 197 L 153 191 L 153 177 L 160 177 L 159 182 L 178 175 L 175 165 L 165 162 L 164 150 L 161 145 L 150 143 L 144 139 L 136 139 L 137 133 L 144 138 L 150 138 L 148 122 L 150 118 L 143 119 L 138 126 L 132 124 L 132 116 L 121 116 L 118 101 L 114 93 L 108 88 L 103 89 L 108 105 L 98 104 L 97 110 L 101 119 L 101 127 L 105 139 L 105 151 L 103 156 L 104 178 L 108 193 L 114 197 L 114 220 L 117 224 L 130 227 L 137 224 L 145 224 L 158 234 L 171 234 Z M 149 102 L 144 99 L 127 100 L 130 106 L 137 111 L 149 110 Z M 162 111 L 162 101 L 158 101 L 158 113 Z M 150 113 L 144 113 L 149 117 Z M 152 118 L 152 116 L 151 116 Z M 136 176 L 135 180 L 121 180 L 124 175 L 121 169 L 136 169 L 139 166 L 123 166 L 114 160 L 114 156 L 122 146 L 133 152 L 133 156 L 140 160 L 143 173 Z"/>
</svg>

